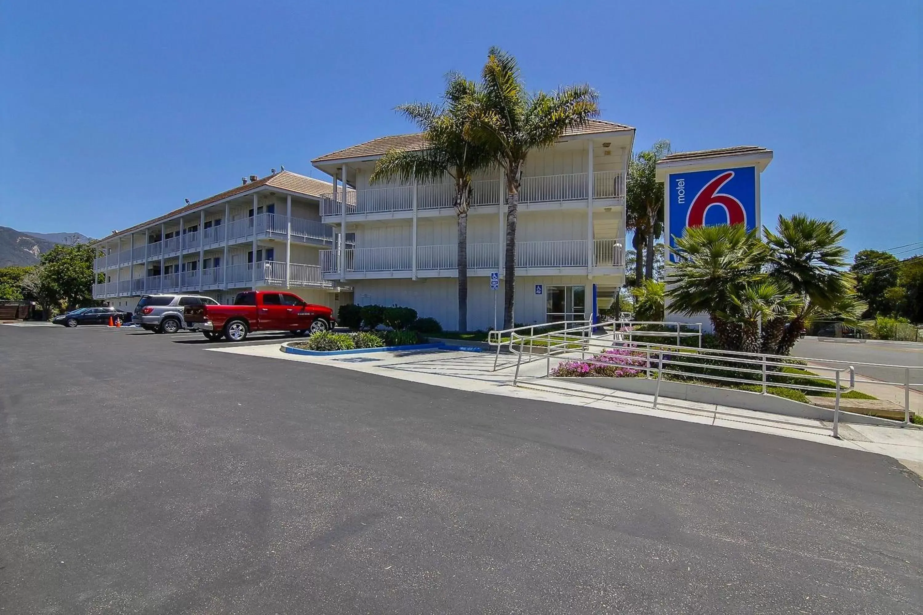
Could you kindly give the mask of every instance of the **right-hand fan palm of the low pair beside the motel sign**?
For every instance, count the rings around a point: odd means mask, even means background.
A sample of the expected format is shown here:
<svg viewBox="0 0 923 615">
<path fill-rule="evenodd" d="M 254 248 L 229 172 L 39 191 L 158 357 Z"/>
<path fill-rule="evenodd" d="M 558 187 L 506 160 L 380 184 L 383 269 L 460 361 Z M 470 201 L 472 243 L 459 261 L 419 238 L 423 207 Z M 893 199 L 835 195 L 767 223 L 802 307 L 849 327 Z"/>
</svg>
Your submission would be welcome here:
<svg viewBox="0 0 923 615">
<path fill-rule="evenodd" d="M 848 251 L 840 243 L 846 231 L 833 220 L 796 214 L 779 216 L 776 231 L 763 227 L 770 248 L 768 270 L 785 280 L 802 298 L 776 344 L 776 354 L 788 354 L 801 331 L 822 313 L 839 313 L 848 321 L 856 314 L 855 280 L 845 271 Z"/>
</svg>

